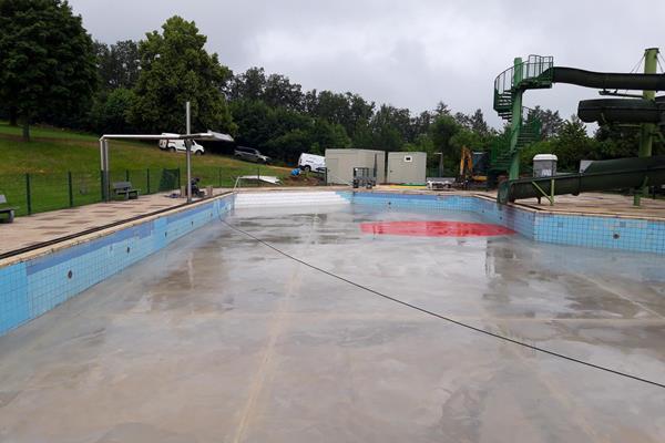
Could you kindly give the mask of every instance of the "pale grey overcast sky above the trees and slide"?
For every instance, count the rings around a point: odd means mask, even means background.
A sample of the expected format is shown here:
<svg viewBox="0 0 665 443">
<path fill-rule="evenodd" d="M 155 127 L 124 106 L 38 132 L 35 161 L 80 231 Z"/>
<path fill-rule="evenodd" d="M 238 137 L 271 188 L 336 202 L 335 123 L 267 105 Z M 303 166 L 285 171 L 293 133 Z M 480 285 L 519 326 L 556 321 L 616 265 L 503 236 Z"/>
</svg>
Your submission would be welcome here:
<svg viewBox="0 0 665 443">
<path fill-rule="evenodd" d="M 515 56 L 628 72 L 645 48 L 664 47 L 663 0 L 70 0 L 94 39 L 140 40 L 171 16 L 194 20 L 207 50 L 234 72 L 264 66 L 305 90 L 454 112 L 482 109 L 490 124 L 493 80 Z M 524 105 L 573 114 L 593 90 L 559 84 Z"/>
</svg>

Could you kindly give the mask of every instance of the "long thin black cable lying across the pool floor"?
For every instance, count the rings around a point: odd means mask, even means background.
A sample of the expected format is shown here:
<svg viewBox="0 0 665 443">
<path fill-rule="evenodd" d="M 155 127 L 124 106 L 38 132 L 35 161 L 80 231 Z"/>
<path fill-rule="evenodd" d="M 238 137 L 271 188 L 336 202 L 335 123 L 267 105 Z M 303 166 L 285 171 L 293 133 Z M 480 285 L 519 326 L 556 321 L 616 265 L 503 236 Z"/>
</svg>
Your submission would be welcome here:
<svg viewBox="0 0 665 443">
<path fill-rule="evenodd" d="M 307 261 L 300 260 L 299 258 L 297 258 L 297 257 L 294 257 L 294 256 L 291 256 L 291 255 L 289 255 L 289 254 L 287 254 L 287 253 L 283 251 L 282 249 L 279 249 L 279 248 L 277 248 L 277 247 L 275 247 L 275 246 L 270 245 L 269 243 L 267 243 L 267 241 L 264 241 L 264 240 L 262 240 L 260 238 L 258 238 L 258 237 L 256 237 L 256 236 L 254 236 L 254 235 L 252 235 L 252 234 L 249 234 L 249 233 L 247 233 L 247 231 L 245 231 L 245 230 L 243 230 L 243 229 L 241 229 L 241 228 L 237 228 L 237 227 L 235 227 L 235 226 L 231 225 L 229 223 L 227 223 L 227 222 L 225 222 L 225 220 L 222 220 L 222 223 L 224 223 L 226 226 L 228 226 L 228 227 L 229 227 L 229 228 L 232 228 L 233 230 L 236 230 L 236 231 L 238 231 L 238 233 L 241 233 L 241 234 L 243 234 L 243 235 L 245 235 L 245 236 L 247 236 L 247 237 L 249 237 L 249 238 L 252 238 L 252 239 L 254 239 L 254 240 L 258 241 L 259 244 L 262 244 L 262 245 L 264 245 L 264 246 L 267 246 L 268 248 L 273 249 L 274 251 L 276 251 L 276 253 L 278 253 L 278 254 L 282 254 L 283 256 L 285 256 L 285 257 L 287 257 L 287 258 L 289 258 L 289 259 L 291 259 L 291 260 L 294 260 L 294 261 L 297 261 L 297 262 L 299 262 L 299 264 L 301 264 L 301 265 L 305 265 L 305 266 L 307 266 L 308 268 L 311 268 L 311 269 L 318 270 L 319 272 L 323 272 L 323 274 L 325 274 L 325 275 L 327 275 L 327 276 L 330 276 L 330 277 L 332 277 L 332 278 L 336 278 L 336 279 L 338 279 L 338 280 L 341 280 L 341 281 L 344 281 L 344 282 L 347 282 L 347 284 L 349 284 L 349 285 L 352 285 L 352 286 L 355 286 L 355 287 L 357 287 L 357 288 L 360 288 L 360 289 L 362 289 L 362 290 L 366 290 L 366 291 L 368 291 L 368 292 L 371 292 L 371 293 L 374 293 L 375 296 L 379 296 L 379 297 L 382 297 L 382 298 L 385 298 L 385 299 L 387 299 L 387 300 L 390 300 L 390 301 L 393 301 L 393 302 L 396 302 L 396 303 L 399 303 L 399 305 L 406 306 L 407 308 L 415 309 L 415 310 L 417 310 L 417 311 L 420 311 L 420 312 L 422 312 L 422 313 L 427 313 L 428 316 L 436 317 L 436 318 L 438 318 L 438 319 L 440 319 L 440 320 L 444 320 L 444 321 L 448 321 L 448 322 L 450 322 L 450 323 L 453 323 L 453 324 L 457 324 L 457 326 L 461 326 L 462 328 L 467 328 L 467 329 L 470 329 L 470 330 L 472 330 L 472 331 L 475 331 L 475 332 L 484 333 L 485 336 L 490 336 L 490 337 L 493 337 L 493 338 L 495 338 L 495 339 L 500 339 L 500 340 L 503 340 L 503 341 L 508 341 L 508 342 L 510 342 L 510 343 L 518 344 L 518 346 L 521 346 L 521 347 L 523 347 L 523 348 L 531 349 L 531 350 L 533 350 L 533 351 L 543 352 L 543 353 L 546 353 L 548 356 L 557 357 L 557 358 L 560 358 L 560 359 L 567 360 L 567 361 L 572 361 L 572 362 L 574 362 L 574 363 L 579 363 L 579 364 L 583 364 L 583 365 L 585 365 L 585 367 L 593 368 L 593 369 L 597 369 L 597 370 L 600 370 L 600 371 L 610 372 L 610 373 L 612 373 L 612 374 L 615 374 L 615 375 L 625 377 L 625 378 L 627 378 L 627 379 L 632 379 L 632 380 L 641 381 L 641 382 L 643 382 L 643 383 L 647 383 L 647 384 L 652 384 L 652 385 L 654 385 L 654 387 L 658 387 L 658 388 L 664 388 L 664 389 L 665 389 L 665 384 L 664 384 L 664 383 L 658 383 L 658 382 L 656 382 L 656 381 L 653 381 L 653 380 L 643 379 L 642 377 L 632 375 L 632 374 L 630 374 L 630 373 L 626 373 L 626 372 L 621 372 L 621 371 L 617 371 L 617 370 L 615 370 L 615 369 L 611 369 L 611 368 L 602 367 L 602 365 L 600 365 L 600 364 L 594 364 L 594 363 L 591 363 L 591 362 L 589 362 L 589 361 L 584 361 L 584 360 L 576 359 L 576 358 L 574 358 L 574 357 L 565 356 L 565 354 L 563 354 L 563 353 L 559 353 L 559 352 L 555 352 L 555 351 L 550 351 L 550 350 L 548 350 L 548 349 L 540 348 L 540 347 L 536 347 L 536 346 L 533 346 L 533 344 L 529 344 L 529 343 L 525 343 L 525 342 L 523 342 L 523 341 L 520 341 L 520 340 L 514 340 L 514 339 L 511 339 L 510 337 L 501 336 L 501 334 L 499 334 L 499 333 L 495 333 L 495 332 L 485 331 L 484 329 L 477 328 L 477 327 L 474 327 L 474 326 L 471 326 L 471 324 L 469 324 L 469 323 L 464 323 L 464 322 L 462 322 L 462 321 L 459 321 L 459 320 L 452 319 L 452 318 L 450 318 L 450 317 L 442 316 L 442 315 L 440 315 L 440 313 L 437 313 L 437 312 L 430 311 L 430 310 L 428 310 L 428 309 L 424 309 L 424 308 L 421 308 L 421 307 L 419 307 L 419 306 L 411 305 L 411 303 L 409 303 L 409 302 L 407 302 L 407 301 L 403 301 L 403 300 L 397 299 L 397 298 L 395 298 L 395 297 L 390 297 L 390 296 L 388 296 L 388 295 L 386 295 L 386 293 L 382 293 L 382 292 L 379 292 L 379 291 L 377 291 L 377 290 L 374 290 L 374 289 L 371 289 L 371 288 L 368 288 L 367 286 L 364 286 L 364 285 L 357 284 L 357 282 L 355 282 L 355 281 L 352 281 L 352 280 L 349 280 L 349 279 L 347 279 L 347 278 L 344 278 L 344 277 L 341 277 L 341 276 L 338 276 L 337 274 L 332 274 L 332 272 L 330 272 L 330 271 L 327 271 L 326 269 L 319 268 L 319 267 L 317 267 L 317 266 L 315 266 L 315 265 L 311 265 L 311 264 L 309 264 L 309 262 L 307 262 Z"/>
</svg>

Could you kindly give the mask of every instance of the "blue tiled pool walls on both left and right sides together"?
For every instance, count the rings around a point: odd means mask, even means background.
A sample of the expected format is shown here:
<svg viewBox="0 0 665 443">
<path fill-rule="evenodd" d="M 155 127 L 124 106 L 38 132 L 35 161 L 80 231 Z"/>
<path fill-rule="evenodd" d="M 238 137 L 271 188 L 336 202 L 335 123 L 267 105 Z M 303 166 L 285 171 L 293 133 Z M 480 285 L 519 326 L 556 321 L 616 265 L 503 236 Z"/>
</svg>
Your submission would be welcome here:
<svg viewBox="0 0 665 443">
<path fill-rule="evenodd" d="M 505 226 L 544 243 L 600 247 L 665 255 L 665 222 L 583 214 L 552 214 L 493 199 L 467 195 L 426 195 L 380 192 L 319 192 L 356 205 L 477 213 L 488 222 Z M 242 194 L 241 194 L 242 195 Z M 272 204 L 311 206 L 309 199 L 294 202 L 289 192 L 272 192 Z M 280 200 L 280 195 L 284 200 Z M 198 203 L 186 209 L 134 222 L 64 244 L 57 250 L 32 254 L 0 265 L 0 336 L 104 280 L 170 243 L 224 217 L 235 195 Z M 265 205 L 260 202 L 258 206 Z"/>
</svg>

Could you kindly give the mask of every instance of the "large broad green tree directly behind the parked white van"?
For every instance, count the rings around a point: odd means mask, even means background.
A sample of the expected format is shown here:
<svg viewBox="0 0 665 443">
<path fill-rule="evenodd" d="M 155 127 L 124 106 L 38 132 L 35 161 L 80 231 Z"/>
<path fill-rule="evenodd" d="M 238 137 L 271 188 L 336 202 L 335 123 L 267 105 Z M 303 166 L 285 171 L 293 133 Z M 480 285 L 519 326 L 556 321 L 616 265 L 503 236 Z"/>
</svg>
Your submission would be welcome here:
<svg viewBox="0 0 665 443">
<path fill-rule="evenodd" d="M 134 89 L 130 121 L 142 131 L 185 132 L 185 103 L 192 104 L 192 131 L 234 134 L 237 126 L 222 91 L 232 78 L 217 54 L 205 49 L 207 38 L 193 21 L 172 17 L 139 43 L 141 74 Z"/>
</svg>

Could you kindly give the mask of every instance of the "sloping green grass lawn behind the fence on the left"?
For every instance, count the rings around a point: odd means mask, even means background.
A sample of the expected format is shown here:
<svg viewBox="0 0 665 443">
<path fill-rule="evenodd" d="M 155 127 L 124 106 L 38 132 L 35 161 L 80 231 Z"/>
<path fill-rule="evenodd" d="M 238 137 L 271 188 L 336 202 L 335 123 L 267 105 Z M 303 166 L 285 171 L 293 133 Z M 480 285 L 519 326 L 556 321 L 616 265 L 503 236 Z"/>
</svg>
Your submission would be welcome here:
<svg viewBox="0 0 665 443">
<path fill-rule="evenodd" d="M 33 126 L 32 140 L 21 140 L 21 128 L 0 122 L 0 194 L 19 215 L 100 202 L 99 136 L 52 127 Z M 154 193 L 164 181 L 164 169 L 181 169 L 185 183 L 185 155 L 157 147 L 156 142 L 110 142 L 112 182 L 129 176 L 142 194 Z M 193 156 L 192 172 L 202 185 L 233 186 L 239 175 L 288 176 L 290 168 L 256 165 L 229 156 Z M 71 179 L 70 179 L 71 173 Z M 30 174 L 27 183 L 25 174 Z M 71 187 L 70 187 L 71 183 Z M 30 186 L 30 200 L 28 199 Z"/>
</svg>

